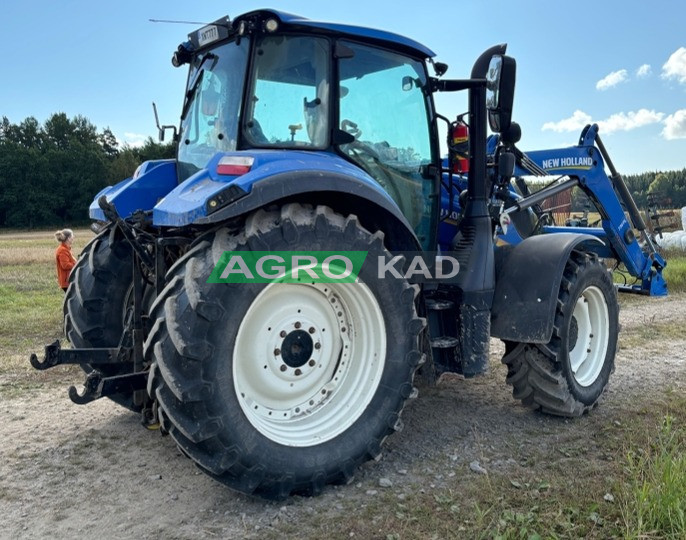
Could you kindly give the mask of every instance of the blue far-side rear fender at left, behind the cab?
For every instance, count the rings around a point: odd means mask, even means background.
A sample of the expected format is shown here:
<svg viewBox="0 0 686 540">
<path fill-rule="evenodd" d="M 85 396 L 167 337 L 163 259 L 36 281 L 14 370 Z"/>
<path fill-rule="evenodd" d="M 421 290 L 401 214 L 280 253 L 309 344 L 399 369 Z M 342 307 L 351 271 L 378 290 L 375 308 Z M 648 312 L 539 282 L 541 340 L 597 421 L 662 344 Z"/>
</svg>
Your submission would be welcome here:
<svg viewBox="0 0 686 540">
<path fill-rule="evenodd" d="M 133 177 L 100 191 L 93 199 L 88 213 L 91 219 L 107 221 L 98 206 L 98 199 L 102 195 L 107 195 L 107 200 L 114 204 L 119 215 L 127 218 L 136 210 L 152 209 L 176 185 L 175 160 L 146 161 Z"/>
</svg>

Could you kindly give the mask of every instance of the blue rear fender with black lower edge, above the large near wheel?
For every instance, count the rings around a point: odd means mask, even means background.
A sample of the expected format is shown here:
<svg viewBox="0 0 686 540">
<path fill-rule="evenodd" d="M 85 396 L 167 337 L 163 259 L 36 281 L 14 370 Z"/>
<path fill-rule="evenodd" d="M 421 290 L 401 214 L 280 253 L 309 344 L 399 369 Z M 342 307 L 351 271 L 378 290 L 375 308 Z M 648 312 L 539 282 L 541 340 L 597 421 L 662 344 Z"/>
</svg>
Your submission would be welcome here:
<svg viewBox="0 0 686 540">
<path fill-rule="evenodd" d="M 217 166 L 224 156 L 252 157 L 253 166 L 240 176 L 220 175 Z M 412 226 L 381 186 L 359 167 L 326 152 L 219 153 L 206 169 L 191 176 L 155 206 L 153 224 L 218 224 L 296 196 L 300 196 L 301 202 L 342 206 L 356 213 L 363 223 L 365 214 L 375 225 L 388 221 L 390 235 L 399 241 L 392 242 L 396 247 L 421 249 Z"/>
</svg>

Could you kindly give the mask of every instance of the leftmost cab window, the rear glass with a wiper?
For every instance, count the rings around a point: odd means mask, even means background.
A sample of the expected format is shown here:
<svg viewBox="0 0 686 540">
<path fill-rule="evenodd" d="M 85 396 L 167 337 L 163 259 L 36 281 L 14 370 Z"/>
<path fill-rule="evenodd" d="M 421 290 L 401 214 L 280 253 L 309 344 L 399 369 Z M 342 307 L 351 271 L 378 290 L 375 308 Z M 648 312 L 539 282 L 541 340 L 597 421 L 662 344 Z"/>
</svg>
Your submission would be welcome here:
<svg viewBox="0 0 686 540">
<path fill-rule="evenodd" d="M 244 38 L 193 59 L 181 121 L 179 181 L 204 168 L 217 152 L 236 150 L 248 50 Z"/>
</svg>

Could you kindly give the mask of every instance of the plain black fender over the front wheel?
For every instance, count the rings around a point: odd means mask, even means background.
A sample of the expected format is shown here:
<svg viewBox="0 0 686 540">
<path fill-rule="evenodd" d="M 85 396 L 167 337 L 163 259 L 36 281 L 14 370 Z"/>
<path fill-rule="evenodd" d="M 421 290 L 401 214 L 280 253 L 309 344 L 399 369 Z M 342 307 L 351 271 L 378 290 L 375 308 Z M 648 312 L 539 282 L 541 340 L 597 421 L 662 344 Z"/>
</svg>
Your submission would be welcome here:
<svg viewBox="0 0 686 540">
<path fill-rule="evenodd" d="M 496 250 L 491 335 L 506 341 L 548 343 L 565 265 L 572 251 L 602 241 L 588 234 L 531 236 Z"/>
</svg>

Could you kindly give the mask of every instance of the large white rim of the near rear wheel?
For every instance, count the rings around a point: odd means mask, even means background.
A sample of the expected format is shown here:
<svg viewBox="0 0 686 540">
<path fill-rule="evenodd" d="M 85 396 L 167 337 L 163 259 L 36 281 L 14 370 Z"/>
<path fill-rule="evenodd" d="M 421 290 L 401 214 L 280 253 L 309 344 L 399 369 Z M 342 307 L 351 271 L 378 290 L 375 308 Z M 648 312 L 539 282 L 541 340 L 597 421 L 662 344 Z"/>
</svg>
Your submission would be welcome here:
<svg viewBox="0 0 686 540">
<path fill-rule="evenodd" d="M 385 361 L 383 314 L 365 284 L 272 283 L 238 328 L 234 389 L 260 433 L 313 446 L 362 415 Z"/>
</svg>

